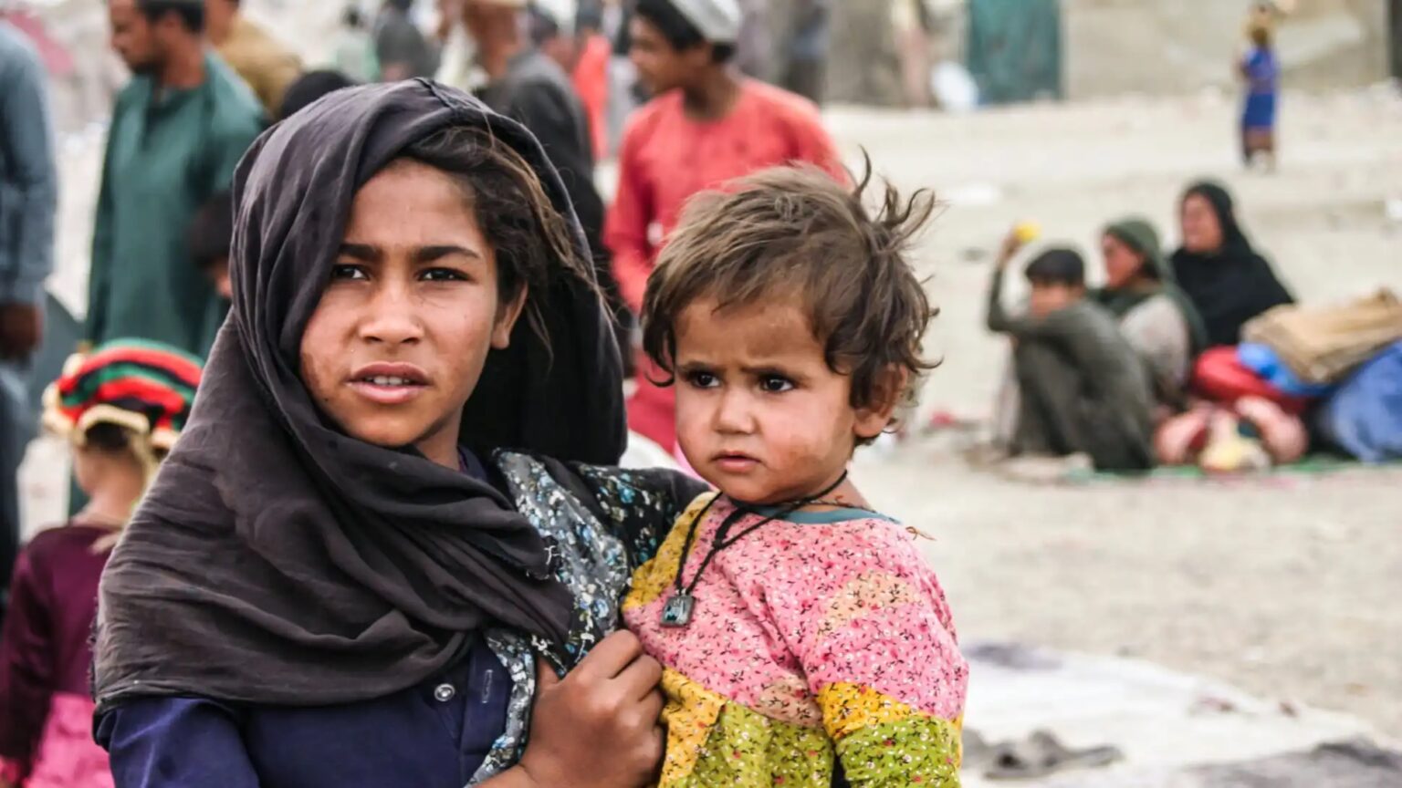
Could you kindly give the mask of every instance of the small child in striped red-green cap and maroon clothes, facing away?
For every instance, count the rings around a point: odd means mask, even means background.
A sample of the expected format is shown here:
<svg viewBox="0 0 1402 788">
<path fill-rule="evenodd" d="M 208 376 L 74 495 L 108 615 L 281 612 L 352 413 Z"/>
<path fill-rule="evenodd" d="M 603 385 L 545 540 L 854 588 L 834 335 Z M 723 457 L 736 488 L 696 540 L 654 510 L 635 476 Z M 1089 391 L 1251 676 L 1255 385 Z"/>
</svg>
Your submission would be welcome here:
<svg viewBox="0 0 1402 788">
<path fill-rule="evenodd" d="M 20 554 L 0 641 L 0 787 L 111 787 L 93 743 L 88 637 L 97 585 L 156 464 L 185 426 L 200 366 L 156 342 L 73 356 L 45 394 L 45 426 L 73 443 L 87 506 Z"/>
</svg>

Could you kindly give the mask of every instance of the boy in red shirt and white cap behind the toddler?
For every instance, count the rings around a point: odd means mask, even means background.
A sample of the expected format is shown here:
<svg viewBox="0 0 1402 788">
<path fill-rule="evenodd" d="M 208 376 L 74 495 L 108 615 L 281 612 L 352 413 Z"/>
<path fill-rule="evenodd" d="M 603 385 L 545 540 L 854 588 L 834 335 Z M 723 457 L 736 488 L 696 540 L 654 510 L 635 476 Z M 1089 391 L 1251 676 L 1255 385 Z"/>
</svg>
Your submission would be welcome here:
<svg viewBox="0 0 1402 788">
<path fill-rule="evenodd" d="M 729 67 L 740 18 L 735 0 L 639 0 L 629 22 L 629 56 L 655 98 L 624 132 L 604 243 L 635 313 L 691 195 L 789 163 L 847 179 L 817 107 Z M 646 362 L 639 370 L 628 426 L 674 451 L 673 393 L 653 383 L 667 376 Z"/>
</svg>

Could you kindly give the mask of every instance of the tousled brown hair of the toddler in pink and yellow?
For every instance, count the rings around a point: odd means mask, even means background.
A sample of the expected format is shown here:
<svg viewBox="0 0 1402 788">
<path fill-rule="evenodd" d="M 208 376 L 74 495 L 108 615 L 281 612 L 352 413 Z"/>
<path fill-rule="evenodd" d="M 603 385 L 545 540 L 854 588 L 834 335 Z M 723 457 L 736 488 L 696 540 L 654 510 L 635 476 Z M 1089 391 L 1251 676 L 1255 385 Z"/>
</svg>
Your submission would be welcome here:
<svg viewBox="0 0 1402 788">
<path fill-rule="evenodd" d="M 875 216 L 864 205 L 880 192 Z M 803 299 L 827 366 L 852 381 L 854 408 L 913 400 L 935 365 L 921 338 L 935 311 L 910 266 L 913 237 L 934 213 L 928 189 L 910 199 L 875 182 L 871 158 L 857 188 L 815 167 L 775 167 L 693 198 L 648 280 L 642 346 L 676 380 L 676 327 L 701 299 L 719 308 Z M 904 370 L 889 391 L 887 373 Z"/>
</svg>

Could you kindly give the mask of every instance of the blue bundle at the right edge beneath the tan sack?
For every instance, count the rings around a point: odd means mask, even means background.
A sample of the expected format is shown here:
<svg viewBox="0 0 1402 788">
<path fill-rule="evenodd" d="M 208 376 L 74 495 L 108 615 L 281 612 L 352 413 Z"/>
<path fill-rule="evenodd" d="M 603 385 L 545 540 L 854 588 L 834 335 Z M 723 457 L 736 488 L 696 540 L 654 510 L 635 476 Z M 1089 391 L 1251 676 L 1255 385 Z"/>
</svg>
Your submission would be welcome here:
<svg viewBox="0 0 1402 788">
<path fill-rule="evenodd" d="M 1319 409 L 1319 430 L 1364 463 L 1402 460 L 1402 342 L 1363 365 Z"/>
</svg>

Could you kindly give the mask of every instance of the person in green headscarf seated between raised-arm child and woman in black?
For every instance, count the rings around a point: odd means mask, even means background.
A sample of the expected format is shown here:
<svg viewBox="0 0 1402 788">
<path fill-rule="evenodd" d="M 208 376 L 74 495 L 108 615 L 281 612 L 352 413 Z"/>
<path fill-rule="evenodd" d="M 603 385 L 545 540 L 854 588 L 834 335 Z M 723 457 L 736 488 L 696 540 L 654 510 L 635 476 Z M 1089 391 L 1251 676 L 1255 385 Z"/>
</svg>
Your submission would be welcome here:
<svg viewBox="0 0 1402 788">
<path fill-rule="evenodd" d="M 1115 313 L 1130 345 L 1154 374 L 1162 404 L 1178 405 L 1193 359 L 1207 346 L 1207 331 L 1187 296 L 1173 283 L 1158 233 L 1130 217 L 1105 229 L 1105 286 L 1091 297 Z"/>
</svg>

